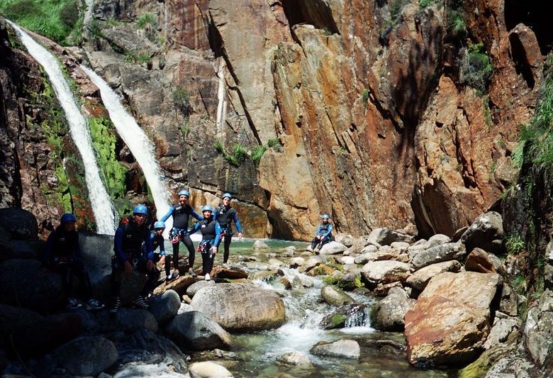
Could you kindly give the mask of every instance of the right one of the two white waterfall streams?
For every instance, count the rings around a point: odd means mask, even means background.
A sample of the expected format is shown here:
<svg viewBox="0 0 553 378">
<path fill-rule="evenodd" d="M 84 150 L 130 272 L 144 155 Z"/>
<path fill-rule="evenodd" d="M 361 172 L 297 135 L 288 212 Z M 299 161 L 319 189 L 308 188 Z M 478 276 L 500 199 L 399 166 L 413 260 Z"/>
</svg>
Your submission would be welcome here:
<svg viewBox="0 0 553 378">
<path fill-rule="evenodd" d="M 152 145 L 144 130 L 138 126 L 135 118 L 125 110 L 119 96 L 108 86 L 104 79 L 88 67 L 81 66 L 81 68 L 89 75 L 91 81 L 96 84 L 96 87 L 100 89 L 102 101 L 108 110 L 111 122 L 130 149 L 130 152 L 133 153 L 138 165 L 140 165 L 148 187 L 154 197 L 157 218 L 161 218 L 169 211 L 169 196 L 162 181 L 160 168 L 155 160 L 154 145 Z M 167 237 L 172 227 L 172 217 L 167 219 L 165 224 L 167 227 L 165 228 L 164 235 Z"/>
</svg>

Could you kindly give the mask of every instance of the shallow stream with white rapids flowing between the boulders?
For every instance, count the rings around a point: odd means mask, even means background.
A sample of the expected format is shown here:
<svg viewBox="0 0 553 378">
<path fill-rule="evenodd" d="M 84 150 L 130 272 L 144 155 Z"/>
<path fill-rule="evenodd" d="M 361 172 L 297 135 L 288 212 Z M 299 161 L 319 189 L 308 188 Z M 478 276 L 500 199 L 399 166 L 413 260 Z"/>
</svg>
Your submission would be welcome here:
<svg viewBox="0 0 553 378">
<path fill-rule="evenodd" d="M 263 240 L 269 250 L 254 251 L 254 240 L 234 240 L 230 245 L 231 266 L 246 269 L 250 273 L 263 269 L 269 258 L 286 262 L 284 248 L 296 247 L 294 257 L 301 256 L 308 243 L 284 240 Z M 221 251 L 222 252 L 222 251 Z M 255 257 L 259 263 L 240 262 Z M 220 264 L 222 253 L 216 257 Z M 266 265 L 265 265 L 266 266 Z M 351 319 L 351 327 L 340 330 L 318 328 L 320 320 L 333 311 L 320 296 L 324 283 L 321 277 L 308 277 L 297 269 L 283 269 L 286 278 L 292 283 L 292 289 L 286 290 L 279 282 L 267 283 L 255 280 L 254 283 L 264 289 L 277 291 L 286 307 L 286 323 L 274 330 L 258 333 L 234 334 L 234 346 L 231 350 L 238 355 L 238 363 L 224 364 L 235 377 L 456 377 L 453 370 L 415 369 L 407 362 L 406 352 L 391 345 L 405 345 L 403 333 L 380 332 L 370 324 L 356 324 Z M 312 286 L 311 286 L 312 285 Z M 307 286 L 307 287 L 306 287 Z M 377 301 L 374 297 L 348 292 L 357 302 L 368 304 Z M 367 316 L 367 319 L 369 317 Z M 318 357 L 309 350 L 319 341 L 353 339 L 361 347 L 359 360 L 335 357 Z M 312 367 L 285 365 L 277 357 L 286 352 L 303 352 L 311 360 Z M 194 360 L 210 359 L 208 356 L 194 355 Z M 221 361 L 222 362 L 222 361 Z M 289 374 L 289 375 L 287 375 Z"/>
</svg>

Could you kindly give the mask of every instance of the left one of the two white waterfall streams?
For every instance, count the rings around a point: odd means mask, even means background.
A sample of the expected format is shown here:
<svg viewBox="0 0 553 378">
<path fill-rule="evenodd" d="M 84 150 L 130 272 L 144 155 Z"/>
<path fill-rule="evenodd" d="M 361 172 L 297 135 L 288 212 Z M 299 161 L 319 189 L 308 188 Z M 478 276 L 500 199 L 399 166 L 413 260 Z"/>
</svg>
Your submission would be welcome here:
<svg viewBox="0 0 553 378">
<path fill-rule="evenodd" d="M 92 212 L 96 221 L 96 232 L 113 235 L 116 228 L 116 211 L 111 203 L 106 187 L 104 187 L 104 183 L 100 179 L 86 118 L 84 118 L 74 100 L 71 89 L 69 89 L 69 84 L 60 68 L 60 63 L 51 52 L 35 42 L 33 38 L 30 38 L 16 24 L 11 21 L 8 22 L 19 34 L 21 43 L 25 45 L 29 54 L 48 74 L 57 99 L 60 101 L 65 118 L 67 118 L 67 123 L 69 123 L 69 133 L 82 157 L 84 177 L 89 190 Z"/>
</svg>

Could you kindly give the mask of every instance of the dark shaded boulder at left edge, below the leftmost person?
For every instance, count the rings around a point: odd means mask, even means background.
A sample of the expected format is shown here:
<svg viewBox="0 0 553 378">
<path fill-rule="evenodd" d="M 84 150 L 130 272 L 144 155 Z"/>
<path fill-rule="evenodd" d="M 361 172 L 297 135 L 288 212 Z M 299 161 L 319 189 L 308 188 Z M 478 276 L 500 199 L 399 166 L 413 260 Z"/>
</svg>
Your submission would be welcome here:
<svg viewBox="0 0 553 378">
<path fill-rule="evenodd" d="M 5 260 L 0 264 L 0 302 L 51 313 L 65 305 L 60 274 L 27 259 Z"/>
</svg>

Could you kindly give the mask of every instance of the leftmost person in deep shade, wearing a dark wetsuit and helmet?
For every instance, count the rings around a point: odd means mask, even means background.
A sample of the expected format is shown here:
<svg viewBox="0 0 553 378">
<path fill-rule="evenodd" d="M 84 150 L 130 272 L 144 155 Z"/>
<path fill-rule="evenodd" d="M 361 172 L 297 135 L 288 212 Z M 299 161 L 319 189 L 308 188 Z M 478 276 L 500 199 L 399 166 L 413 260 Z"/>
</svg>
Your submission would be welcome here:
<svg viewBox="0 0 553 378">
<path fill-rule="evenodd" d="M 48 236 L 43 256 L 43 267 L 50 267 L 62 275 L 62 288 L 67 293 L 67 308 L 70 310 L 82 307 L 82 302 L 74 295 L 73 277 L 77 276 L 86 300 L 86 309 L 104 308 L 98 300 L 92 298 L 89 274 L 82 262 L 79 234 L 75 230 L 77 218 L 72 213 L 65 213 L 60 219 L 60 226 Z"/>
</svg>

